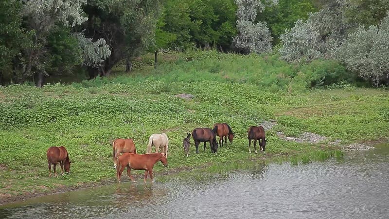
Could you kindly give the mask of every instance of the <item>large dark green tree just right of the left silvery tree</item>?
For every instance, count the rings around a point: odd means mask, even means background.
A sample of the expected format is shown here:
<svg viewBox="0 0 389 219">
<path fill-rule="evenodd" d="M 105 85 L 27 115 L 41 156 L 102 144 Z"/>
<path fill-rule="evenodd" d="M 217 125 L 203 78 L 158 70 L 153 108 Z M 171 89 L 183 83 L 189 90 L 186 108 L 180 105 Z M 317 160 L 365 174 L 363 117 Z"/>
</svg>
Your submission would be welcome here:
<svg viewBox="0 0 389 219">
<path fill-rule="evenodd" d="M 90 78 L 108 76 L 123 58 L 130 59 L 146 51 L 155 40 L 155 27 L 161 9 L 159 0 L 89 0 L 85 36 L 104 38 L 111 55 L 98 71 L 89 68 Z"/>
</svg>

